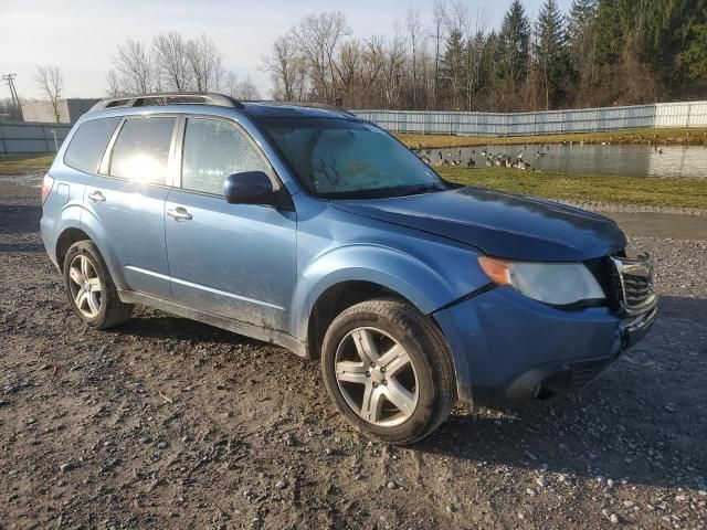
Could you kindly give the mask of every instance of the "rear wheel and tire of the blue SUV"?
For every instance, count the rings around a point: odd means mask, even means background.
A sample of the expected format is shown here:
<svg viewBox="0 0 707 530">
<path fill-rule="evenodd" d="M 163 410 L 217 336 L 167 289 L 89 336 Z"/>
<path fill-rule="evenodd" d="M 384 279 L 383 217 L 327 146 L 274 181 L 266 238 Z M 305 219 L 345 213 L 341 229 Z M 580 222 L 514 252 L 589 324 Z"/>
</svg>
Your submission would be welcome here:
<svg viewBox="0 0 707 530">
<path fill-rule="evenodd" d="M 120 301 L 108 267 L 92 241 L 71 245 L 63 271 L 68 305 L 86 325 L 108 329 L 130 318 L 133 306 Z"/>
</svg>

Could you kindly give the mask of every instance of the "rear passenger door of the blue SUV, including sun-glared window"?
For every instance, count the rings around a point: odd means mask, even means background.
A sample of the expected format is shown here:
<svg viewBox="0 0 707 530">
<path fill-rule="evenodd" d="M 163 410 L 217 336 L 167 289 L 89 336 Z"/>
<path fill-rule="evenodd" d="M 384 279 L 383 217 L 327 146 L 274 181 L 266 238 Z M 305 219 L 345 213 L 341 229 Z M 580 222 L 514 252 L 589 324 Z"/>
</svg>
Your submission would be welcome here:
<svg viewBox="0 0 707 530">
<path fill-rule="evenodd" d="M 84 202 L 98 220 L 127 288 L 171 298 L 165 245 L 165 201 L 175 116 L 123 119 L 86 187 Z"/>
</svg>

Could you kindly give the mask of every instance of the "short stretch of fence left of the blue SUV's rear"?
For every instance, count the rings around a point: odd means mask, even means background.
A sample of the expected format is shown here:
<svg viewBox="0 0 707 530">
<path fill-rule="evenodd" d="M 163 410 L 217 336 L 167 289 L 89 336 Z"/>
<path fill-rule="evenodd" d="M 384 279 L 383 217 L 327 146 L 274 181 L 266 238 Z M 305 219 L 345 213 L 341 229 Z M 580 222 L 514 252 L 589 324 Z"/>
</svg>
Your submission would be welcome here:
<svg viewBox="0 0 707 530">
<path fill-rule="evenodd" d="M 0 121 L 0 155 L 55 152 L 70 130 L 70 124 Z"/>
</svg>

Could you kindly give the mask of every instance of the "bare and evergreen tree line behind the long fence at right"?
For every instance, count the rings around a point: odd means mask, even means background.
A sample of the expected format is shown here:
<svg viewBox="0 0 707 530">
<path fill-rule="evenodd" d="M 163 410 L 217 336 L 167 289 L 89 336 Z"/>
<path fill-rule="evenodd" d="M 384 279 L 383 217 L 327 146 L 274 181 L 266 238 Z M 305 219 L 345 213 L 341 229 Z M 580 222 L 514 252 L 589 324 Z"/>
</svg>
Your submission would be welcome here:
<svg viewBox="0 0 707 530">
<path fill-rule="evenodd" d="M 277 36 L 264 67 L 277 99 L 348 108 L 537 110 L 704 95 L 705 0 L 514 0 L 498 29 L 461 0 L 408 10 L 391 36 L 357 36 L 339 11 Z"/>
</svg>

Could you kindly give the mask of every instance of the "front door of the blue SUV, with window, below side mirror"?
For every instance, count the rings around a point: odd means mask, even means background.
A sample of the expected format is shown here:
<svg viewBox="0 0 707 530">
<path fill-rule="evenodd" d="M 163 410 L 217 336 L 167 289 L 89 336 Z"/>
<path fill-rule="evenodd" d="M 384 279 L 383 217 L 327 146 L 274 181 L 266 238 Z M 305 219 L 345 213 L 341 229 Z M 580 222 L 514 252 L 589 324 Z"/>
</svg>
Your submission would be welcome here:
<svg viewBox="0 0 707 530">
<path fill-rule="evenodd" d="M 232 120 L 193 116 L 181 127 L 179 186 L 167 198 L 167 254 L 175 301 L 276 330 L 286 329 L 296 268 L 296 214 L 229 204 L 223 181 L 274 171 Z"/>
</svg>

